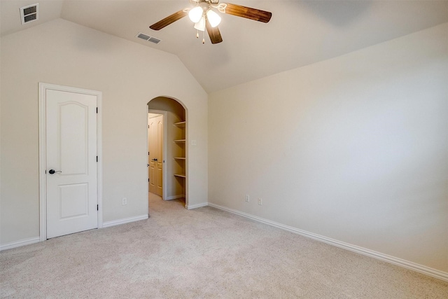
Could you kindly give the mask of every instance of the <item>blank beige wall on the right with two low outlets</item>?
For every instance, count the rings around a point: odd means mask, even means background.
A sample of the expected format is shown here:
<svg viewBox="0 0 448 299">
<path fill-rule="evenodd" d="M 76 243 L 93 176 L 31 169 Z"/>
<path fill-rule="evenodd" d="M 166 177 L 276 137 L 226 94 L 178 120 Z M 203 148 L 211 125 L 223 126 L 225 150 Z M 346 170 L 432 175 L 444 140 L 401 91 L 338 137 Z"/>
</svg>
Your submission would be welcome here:
<svg viewBox="0 0 448 299">
<path fill-rule="evenodd" d="M 214 92 L 209 202 L 448 272 L 447 83 L 444 24 Z"/>
</svg>

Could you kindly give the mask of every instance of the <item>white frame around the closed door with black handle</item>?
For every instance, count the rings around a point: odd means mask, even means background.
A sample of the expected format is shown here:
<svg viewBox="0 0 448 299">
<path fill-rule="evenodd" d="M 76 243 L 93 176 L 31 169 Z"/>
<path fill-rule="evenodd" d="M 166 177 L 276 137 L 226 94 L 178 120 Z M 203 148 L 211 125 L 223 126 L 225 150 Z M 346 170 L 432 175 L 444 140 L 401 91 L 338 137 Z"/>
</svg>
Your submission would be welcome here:
<svg viewBox="0 0 448 299">
<path fill-rule="evenodd" d="M 45 122 L 46 122 L 46 99 L 45 90 L 58 90 L 64 92 L 77 92 L 85 95 L 94 95 L 97 97 L 97 200 L 98 200 L 98 228 L 103 227 L 103 162 L 102 162 L 102 92 L 97 90 L 85 90 L 82 88 L 72 88 L 69 86 L 55 85 L 39 82 L 39 209 L 40 209 L 40 240 L 47 239 L 47 176 L 46 171 L 46 139 L 45 139 Z"/>
</svg>

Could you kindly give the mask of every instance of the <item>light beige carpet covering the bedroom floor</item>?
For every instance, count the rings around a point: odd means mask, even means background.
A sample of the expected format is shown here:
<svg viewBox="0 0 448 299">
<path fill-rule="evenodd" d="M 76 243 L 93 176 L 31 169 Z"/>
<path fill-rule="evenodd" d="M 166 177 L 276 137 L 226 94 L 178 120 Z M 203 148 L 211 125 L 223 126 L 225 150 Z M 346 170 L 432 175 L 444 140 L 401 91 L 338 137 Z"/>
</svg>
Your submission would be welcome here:
<svg viewBox="0 0 448 299">
<path fill-rule="evenodd" d="M 211 207 L 0 253 L 1 298 L 448 298 L 448 284 Z"/>
</svg>

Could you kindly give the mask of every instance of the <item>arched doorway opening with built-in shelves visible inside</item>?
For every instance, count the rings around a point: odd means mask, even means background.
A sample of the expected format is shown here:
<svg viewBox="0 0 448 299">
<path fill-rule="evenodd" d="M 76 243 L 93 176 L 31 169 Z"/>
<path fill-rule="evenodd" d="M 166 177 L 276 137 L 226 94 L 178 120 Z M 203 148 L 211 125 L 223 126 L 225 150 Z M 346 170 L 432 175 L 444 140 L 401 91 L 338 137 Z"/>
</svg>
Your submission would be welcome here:
<svg viewBox="0 0 448 299">
<path fill-rule="evenodd" d="M 148 102 L 148 196 L 188 204 L 187 113 L 169 97 Z"/>
</svg>

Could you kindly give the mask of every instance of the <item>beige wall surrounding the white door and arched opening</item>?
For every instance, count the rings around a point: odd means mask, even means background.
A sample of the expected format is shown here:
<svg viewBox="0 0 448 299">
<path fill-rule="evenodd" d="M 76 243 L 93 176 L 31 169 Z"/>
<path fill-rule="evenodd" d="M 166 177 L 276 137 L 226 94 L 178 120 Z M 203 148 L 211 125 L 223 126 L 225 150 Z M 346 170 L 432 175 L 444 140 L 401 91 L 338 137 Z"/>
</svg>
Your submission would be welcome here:
<svg viewBox="0 0 448 299">
<path fill-rule="evenodd" d="M 103 92 L 105 222 L 147 213 L 147 103 L 158 96 L 188 109 L 189 204 L 207 202 L 207 93 L 195 78 L 174 55 L 59 19 L 1 38 L 1 245 L 39 235 L 38 82 Z"/>
</svg>

